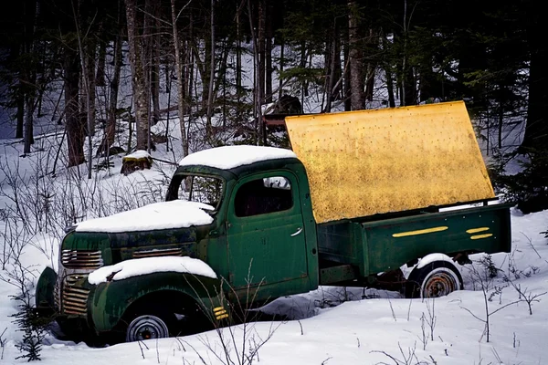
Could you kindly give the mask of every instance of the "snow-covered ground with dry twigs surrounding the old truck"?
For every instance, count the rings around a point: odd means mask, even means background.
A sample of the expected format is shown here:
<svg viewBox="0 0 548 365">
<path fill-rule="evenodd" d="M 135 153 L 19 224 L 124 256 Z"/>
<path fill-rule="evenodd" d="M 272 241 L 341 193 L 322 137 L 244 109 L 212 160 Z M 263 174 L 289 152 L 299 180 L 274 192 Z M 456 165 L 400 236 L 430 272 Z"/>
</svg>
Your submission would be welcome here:
<svg viewBox="0 0 548 365">
<path fill-rule="evenodd" d="M 247 74 L 251 75 L 249 70 L 253 65 L 247 68 Z M 125 84 L 129 84 L 127 74 L 126 69 Z M 122 89 L 121 99 L 127 101 L 128 88 L 122 86 Z M 53 110 L 57 99 L 56 95 L 48 99 L 53 100 L 48 104 L 49 109 Z M 173 103 L 172 100 L 171 105 Z M 163 107 L 165 104 L 164 100 Z M 303 108 L 307 112 L 319 111 L 320 105 L 321 97 L 316 95 L 305 100 Z M 180 160 L 180 131 L 174 121 L 169 122 L 168 135 L 173 142 L 170 148 L 175 151 L 166 151 L 165 145 L 159 145 L 158 151 L 153 152 L 154 158 Z M 58 131 L 50 120 L 43 124 L 45 127 L 37 128 L 37 134 L 45 132 L 46 127 L 51 127 L 47 131 Z M 165 124 L 162 121 L 153 128 L 162 131 L 166 129 Z M 13 133 L 10 133 L 0 132 L 0 135 L 11 136 Z M 513 136 L 512 131 L 509 135 Z M 124 176 L 120 174 L 121 156 L 113 156 L 113 166 L 93 172 L 93 179 L 88 181 L 85 167 L 80 170 L 63 167 L 65 148 L 54 167 L 61 132 L 51 133 L 47 138 L 37 137 L 33 152 L 26 158 L 20 157 L 20 141 L 0 141 L 2 364 L 26 362 L 16 359 L 21 355 L 16 344 L 23 333 L 13 323 L 15 318 L 10 317 L 17 311 L 12 296 L 19 291 L 13 279 L 15 267 L 10 264 L 14 257 L 28 268 L 28 284 L 32 287 L 44 267 L 57 266 L 64 224 L 161 202 L 166 179 L 174 171 L 174 166 L 155 161 L 152 171 Z M 95 140 L 96 145 L 100 133 Z M 125 141 L 119 141 L 118 136 L 117 142 L 125 146 Z M 485 146 L 482 147 L 485 150 Z M 191 150 L 197 149 L 191 145 Z M 93 164 L 100 162 L 102 159 L 94 159 Z M 54 170 L 55 177 L 50 173 Z M 18 214 L 13 199 L 16 193 L 23 193 L 17 195 Z M 512 210 L 511 228 L 511 254 L 492 257 L 499 269 L 498 276 L 485 279 L 486 267 L 478 263 L 482 255 L 475 255 L 472 258 L 476 264 L 462 270 L 465 290 L 448 297 L 421 301 L 371 289 L 320 287 L 311 293 L 279 298 L 263 308 L 267 313 L 290 318 L 283 322 L 250 323 L 247 327 L 101 349 L 62 341 L 48 334 L 41 351 L 42 363 L 548 364 L 548 354 L 543 348 L 548 343 L 548 294 L 544 295 L 548 292 L 548 239 L 540 234 L 548 229 L 548 211 L 523 215 Z M 482 286 L 487 287 L 486 293 Z M 524 299 L 532 300 L 532 314 Z M 489 342 L 484 323 L 486 313 L 490 313 Z"/>
</svg>

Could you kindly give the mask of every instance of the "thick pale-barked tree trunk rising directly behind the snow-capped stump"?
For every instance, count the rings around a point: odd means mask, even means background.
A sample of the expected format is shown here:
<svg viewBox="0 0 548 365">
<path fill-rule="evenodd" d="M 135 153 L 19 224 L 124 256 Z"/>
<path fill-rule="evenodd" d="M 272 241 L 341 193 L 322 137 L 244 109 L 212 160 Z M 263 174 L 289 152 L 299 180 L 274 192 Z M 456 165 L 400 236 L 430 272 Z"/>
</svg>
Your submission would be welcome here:
<svg viewBox="0 0 548 365">
<path fill-rule="evenodd" d="M 139 29 L 136 23 L 136 0 L 125 0 L 128 25 L 130 67 L 132 68 L 133 103 L 137 130 L 137 150 L 147 150 L 149 141 L 148 100 L 146 75 L 142 67 L 142 45 L 139 42 Z"/>
</svg>

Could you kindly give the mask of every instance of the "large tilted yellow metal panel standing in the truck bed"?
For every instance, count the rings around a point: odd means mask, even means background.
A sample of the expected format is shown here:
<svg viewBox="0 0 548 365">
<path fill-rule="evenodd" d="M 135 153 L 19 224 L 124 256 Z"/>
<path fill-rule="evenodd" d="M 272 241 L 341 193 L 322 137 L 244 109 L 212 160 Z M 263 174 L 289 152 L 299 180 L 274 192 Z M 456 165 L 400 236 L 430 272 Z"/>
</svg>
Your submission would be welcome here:
<svg viewBox="0 0 548 365">
<path fill-rule="evenodd" d="M 286 118 L 318 223 L 494 197 L 464 102 Z"/>
</svg>

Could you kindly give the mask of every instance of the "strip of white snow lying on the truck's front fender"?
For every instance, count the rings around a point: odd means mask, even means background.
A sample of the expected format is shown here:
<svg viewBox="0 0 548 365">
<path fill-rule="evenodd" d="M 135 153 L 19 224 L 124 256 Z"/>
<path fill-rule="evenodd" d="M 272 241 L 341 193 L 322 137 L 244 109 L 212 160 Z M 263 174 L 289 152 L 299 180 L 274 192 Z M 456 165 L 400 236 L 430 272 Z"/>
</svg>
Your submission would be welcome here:
<svg viewBox="0 0 548 365">
<path fill-rule="evenodd" d="M 106 283 L 107 277 L 112 274 L 114 274 L 112 280 L 116 281 L 127 279 L 132 276 L 164 273 L 166 271 L 216 278 L 215 271 L 202 260 L 188 256 L 166 256 L 136 258 L 122 261 L 116 265 L 103 266 L 93 271 L 90 276 L 88 276 L 88 281 L 92 285 L 98 285 L 100 283 Z"/>
</svg>

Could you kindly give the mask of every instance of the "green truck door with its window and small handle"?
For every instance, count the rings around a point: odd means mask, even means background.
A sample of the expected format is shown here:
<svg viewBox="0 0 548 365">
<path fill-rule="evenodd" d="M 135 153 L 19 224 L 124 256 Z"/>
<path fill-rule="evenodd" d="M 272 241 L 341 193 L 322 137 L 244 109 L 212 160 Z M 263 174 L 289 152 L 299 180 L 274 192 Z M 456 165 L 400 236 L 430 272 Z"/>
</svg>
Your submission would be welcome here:
<svg viewBox="0 0 548 365">
<path fill-rule="evenodd" d="M 295 176 L 249 176 L 233 192 L 227 212 L 232 288 L 243 294 L 259 287 L 257 300 L 308 290 L 306 233 Z"/>
</svg>

